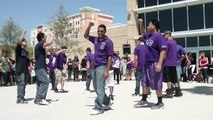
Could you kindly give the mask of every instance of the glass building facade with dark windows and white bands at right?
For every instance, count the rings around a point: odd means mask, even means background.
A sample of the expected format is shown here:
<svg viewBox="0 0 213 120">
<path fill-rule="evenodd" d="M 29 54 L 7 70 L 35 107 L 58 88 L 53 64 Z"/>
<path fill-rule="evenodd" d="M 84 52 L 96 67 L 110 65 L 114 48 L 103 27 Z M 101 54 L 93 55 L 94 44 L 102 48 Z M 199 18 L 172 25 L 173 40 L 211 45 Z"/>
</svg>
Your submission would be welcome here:
<svg viewBox="0 0 213 120">
<path fill-rule="evenodd" d="M 128 0 L 130 1 L 130 0 Z M 144 20 L 160 21 L 160 32 L 172 31 L 177 44 L 192 53 L 198 68 L 200 52 L 213 57 L 213 0 L 135 0 L 134 13 Z"/>
</svg>

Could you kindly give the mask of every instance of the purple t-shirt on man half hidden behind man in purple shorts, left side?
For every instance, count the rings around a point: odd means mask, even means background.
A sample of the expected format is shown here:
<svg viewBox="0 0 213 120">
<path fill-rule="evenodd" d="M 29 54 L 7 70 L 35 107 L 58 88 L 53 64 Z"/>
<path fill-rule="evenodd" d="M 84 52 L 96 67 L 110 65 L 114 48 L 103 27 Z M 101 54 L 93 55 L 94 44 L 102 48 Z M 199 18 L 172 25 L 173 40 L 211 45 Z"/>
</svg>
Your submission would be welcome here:
<svg viewBox="0 0 213 120">
<path fill-rule="evenodd" d="M 146 48 L 145 45 L 138 44 L 134 50 L 134 55 L 138 57 L 138 65 L 137 68 L 143 68 L 145 64 L 145 58 L 146 58 Z"/>
</svg>

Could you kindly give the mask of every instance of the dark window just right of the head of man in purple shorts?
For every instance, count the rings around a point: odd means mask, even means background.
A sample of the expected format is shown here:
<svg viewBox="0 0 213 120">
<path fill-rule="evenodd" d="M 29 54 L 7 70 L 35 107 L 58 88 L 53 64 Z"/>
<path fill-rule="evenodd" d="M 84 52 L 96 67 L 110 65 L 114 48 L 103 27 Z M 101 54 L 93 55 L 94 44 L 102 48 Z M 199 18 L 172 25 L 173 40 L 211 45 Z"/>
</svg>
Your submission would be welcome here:
<svg viewBox="0 0 213 120">
<path fill-rule="evenodd" d="M 171 10 L 164 10 L 159 12 L 160 31 L 172 31 L 172 13 Z"/>
</svg>

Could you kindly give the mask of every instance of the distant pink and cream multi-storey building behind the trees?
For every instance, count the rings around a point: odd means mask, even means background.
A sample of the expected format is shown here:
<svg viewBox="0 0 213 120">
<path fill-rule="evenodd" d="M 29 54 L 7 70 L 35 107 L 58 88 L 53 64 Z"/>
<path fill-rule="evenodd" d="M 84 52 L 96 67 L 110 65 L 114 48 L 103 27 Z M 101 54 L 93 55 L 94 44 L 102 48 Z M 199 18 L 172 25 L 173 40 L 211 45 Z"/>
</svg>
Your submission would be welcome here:
<svg viewBox="0 0 213 120">
<path fill-rule="evenodd" d="M 80 35 L 86 30 L 86 27 L 90 21 L 95 23 L 94 27 L 97 27 L 99 24 L 111 25 L 112 19 L 113 16 L 100 13 L 99 9 L 82 7 L 80 8 L 79 13 L 68 16 L 69 25 L 72 28 L 70 33 L 72 35 Z M 52 29 L 49 25 L 38 25 L 35 29 L 31 30 L 30 43 L 32 46 L 36 45 L 36 36 L 39 32 L 51 34 Z"/>
</svg>

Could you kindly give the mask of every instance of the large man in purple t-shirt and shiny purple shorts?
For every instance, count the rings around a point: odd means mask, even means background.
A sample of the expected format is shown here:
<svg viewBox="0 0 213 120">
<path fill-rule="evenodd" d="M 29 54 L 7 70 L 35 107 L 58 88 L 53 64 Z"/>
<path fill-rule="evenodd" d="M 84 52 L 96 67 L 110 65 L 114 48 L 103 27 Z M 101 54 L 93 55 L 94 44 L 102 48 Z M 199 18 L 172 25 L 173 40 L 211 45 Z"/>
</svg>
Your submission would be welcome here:
<svg viewBox="0 0 213 120">
<path fill-rule="evenodd" d="M 142 28 L 144 28 L 143 24 Z M 142 87 L 144 89 L 142 100 L 135 107 L 148 106 L 147 95 L 149 88 L 156 91 L 158 102 L 151 109 L 160 109 L 164 107 L 162 102 L 162 87 L 163 87 L 163 60 L 166 53 L 166 41 L 158 30 L 160 24 L 157 20 L 151 20 L 147 27 L 147 32 L 143 34 L 146 46 L 146 62 L 142 75 Z"/>
</svg>

